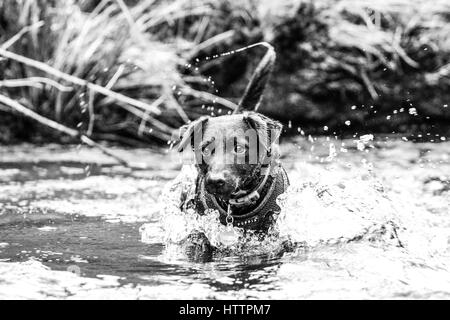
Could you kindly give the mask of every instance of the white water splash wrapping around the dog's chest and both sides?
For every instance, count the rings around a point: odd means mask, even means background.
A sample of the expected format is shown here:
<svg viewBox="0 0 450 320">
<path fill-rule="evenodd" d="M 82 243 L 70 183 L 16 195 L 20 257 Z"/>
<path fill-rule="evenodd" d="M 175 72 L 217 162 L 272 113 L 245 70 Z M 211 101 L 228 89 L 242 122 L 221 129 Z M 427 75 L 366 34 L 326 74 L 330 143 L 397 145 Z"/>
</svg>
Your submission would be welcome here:
<svg viewBox="0 0 450 320">
<path fill-rule="evenodd" d="M 237 255 L 258 255 L 280 251 L 286 241 L 314 247 L 367 238 L 371 241 L 396 239 L 396 212 L 382 187 L 374 181 L 324 179 L 293 183 L 280 196 L 282 208 L 275 227 L 261 240 L 252 232 L 234 228 L 235 241 L 225 241 L 227 227 L 219 222 L 219 212 L 208 210 L 199 215 L 193 209 L 180 210 L 181 194 L 193 198 L 195 169 L 183 168 L 174 183 L 167 186 L 155 210 L 161 222 L 166 245 L 181 244 L 192 232 L 203 232 L 212 245 Z M 186 200 L 186 199 L 185 199 Z M 152 224 L 141 228 L 142 240 L 151 243 Z M 231 251 L 230 251 L 231 250 Z"/>
</svg>

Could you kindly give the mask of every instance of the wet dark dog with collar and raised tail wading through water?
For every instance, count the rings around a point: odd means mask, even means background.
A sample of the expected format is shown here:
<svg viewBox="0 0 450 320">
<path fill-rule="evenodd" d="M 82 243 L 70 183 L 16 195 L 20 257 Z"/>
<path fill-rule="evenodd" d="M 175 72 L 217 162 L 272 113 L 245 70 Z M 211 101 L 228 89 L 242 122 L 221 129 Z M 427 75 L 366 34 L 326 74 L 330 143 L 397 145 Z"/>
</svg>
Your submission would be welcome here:
<svg viewBox="0 0 450 320">
<path fill-rule="evenodd" d="M 278 160 L 282 125 L 255 112 L 274 60 L 269 47 L 234 114 L 202 117 L 181 129 L 178 150 L 192 149 L 198 172 L 195 197 L 182 203 L 183 210 L 216 209 L 221 223 L 261 233 L 275 222 L 276 199 L 289 184 Z M 203 234 L 190 235 L 186 244 L 194 255 L 212 252 Z"/>
</svg>

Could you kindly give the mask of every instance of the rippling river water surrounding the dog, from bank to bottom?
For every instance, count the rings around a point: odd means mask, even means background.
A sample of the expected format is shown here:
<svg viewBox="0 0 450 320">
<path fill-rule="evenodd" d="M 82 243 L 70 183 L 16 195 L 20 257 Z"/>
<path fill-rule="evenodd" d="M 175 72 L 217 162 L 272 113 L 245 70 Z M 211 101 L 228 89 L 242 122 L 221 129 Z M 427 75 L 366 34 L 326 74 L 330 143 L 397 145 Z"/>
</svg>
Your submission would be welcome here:
<svg viewBox="0 0 450 320">
<path fill-rule="evenodd" d="M 0 298 L 448 298 L 450 143 L 371 140 L 283 144 L 280 235 L 245 244 L 160 198 L 175 154 L 114 150 L 151 166 L 131 171 L 84 147 L 1 147 Z M 192 228 L 227 250 L 189 261 Z"/>
</svg>

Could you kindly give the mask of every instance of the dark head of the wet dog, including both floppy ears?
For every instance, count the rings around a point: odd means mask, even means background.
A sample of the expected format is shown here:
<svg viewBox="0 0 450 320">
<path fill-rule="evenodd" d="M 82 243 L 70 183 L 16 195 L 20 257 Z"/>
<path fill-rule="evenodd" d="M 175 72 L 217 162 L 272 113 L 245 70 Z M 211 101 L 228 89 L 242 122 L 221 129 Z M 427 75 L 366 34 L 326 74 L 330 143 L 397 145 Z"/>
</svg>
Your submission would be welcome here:
<svg viewBox="0 0 450 320">
<path fill-rule="evenodd" d="M 202 117 L 182 127 L 178 150 L 194 151 L 208 192 L 224 200 L 252 190 L 278 156 L 282 125 L 256 112 Z"/>
</svg>

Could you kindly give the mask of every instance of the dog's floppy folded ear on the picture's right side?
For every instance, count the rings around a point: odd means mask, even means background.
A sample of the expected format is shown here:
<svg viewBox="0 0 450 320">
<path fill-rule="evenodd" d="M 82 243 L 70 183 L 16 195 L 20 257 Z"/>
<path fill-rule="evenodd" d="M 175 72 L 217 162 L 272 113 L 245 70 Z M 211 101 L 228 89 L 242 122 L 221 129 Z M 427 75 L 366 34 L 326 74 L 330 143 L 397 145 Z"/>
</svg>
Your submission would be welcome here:
<svg viewBox="0 0 450 320">
<path fill-rule="evenodd" d="M 283 125 L 256 112 L 245 112 L 243 119 L 249 128 L 257 132 L 264 148 L 271 151 L 272 147 L 278 143 Z"/>
</svg>

